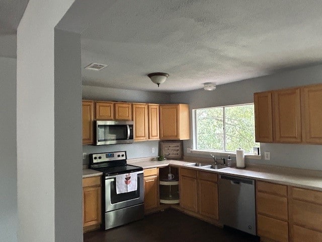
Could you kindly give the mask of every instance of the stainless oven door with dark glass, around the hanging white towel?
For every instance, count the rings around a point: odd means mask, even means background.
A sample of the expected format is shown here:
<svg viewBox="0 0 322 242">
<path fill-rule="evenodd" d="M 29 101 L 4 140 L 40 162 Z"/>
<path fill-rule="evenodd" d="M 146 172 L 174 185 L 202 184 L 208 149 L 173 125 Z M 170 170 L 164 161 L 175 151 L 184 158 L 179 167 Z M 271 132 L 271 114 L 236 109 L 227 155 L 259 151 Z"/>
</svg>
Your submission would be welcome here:
<svg viewBox="0 0 322 242">
<path fill-rule="evenodd" d="M 137 190 L 128 193 L 116 193 L 116 175 L 105 177 L 105 212 L 142 204 L 143 202 L 143 171 L 138 171 L 137 174 Z"/>
</svg>

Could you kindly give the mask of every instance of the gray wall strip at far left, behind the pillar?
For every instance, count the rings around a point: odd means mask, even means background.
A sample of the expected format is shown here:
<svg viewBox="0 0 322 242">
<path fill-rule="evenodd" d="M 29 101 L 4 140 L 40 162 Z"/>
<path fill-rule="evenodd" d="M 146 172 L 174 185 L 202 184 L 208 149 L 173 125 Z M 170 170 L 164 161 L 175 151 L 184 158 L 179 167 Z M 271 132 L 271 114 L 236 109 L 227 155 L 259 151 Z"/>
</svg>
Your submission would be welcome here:
<svg viewBox="0 0 322 242">
<path fill-rule="evenodd" d="M 17 241 L 16 65 L 0 57 L 0 241 Z"/>
</svg>

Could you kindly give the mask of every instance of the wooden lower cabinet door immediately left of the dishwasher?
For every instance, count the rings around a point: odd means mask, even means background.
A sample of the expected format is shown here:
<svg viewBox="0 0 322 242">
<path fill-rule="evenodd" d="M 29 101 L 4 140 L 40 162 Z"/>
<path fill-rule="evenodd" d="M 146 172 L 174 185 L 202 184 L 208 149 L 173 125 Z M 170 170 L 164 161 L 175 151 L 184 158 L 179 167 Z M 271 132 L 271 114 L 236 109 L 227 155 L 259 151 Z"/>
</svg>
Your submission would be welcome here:
<svg viewBox="0 0 322 242">
<path fill-rule="evenodd" d="M 218 185 L 198 179 L 198 207 L 201 215 L 218 220 Z"/>
</svg>

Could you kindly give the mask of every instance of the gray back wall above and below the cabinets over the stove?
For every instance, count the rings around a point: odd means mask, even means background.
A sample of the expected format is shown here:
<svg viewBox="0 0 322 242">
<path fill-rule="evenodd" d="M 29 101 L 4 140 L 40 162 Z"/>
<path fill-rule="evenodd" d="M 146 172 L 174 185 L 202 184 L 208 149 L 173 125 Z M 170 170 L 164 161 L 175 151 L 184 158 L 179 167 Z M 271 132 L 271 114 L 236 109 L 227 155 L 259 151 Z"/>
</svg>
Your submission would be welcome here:
<svg viewBox="0 0 322 242">
<path fill-rule="evenodd" d="M 143 103 L 169 103 L 170 94 L 83 86 L 83 99 Z M 154 153 L 152 153 L 152 148 L 155 150 Z M 157 156 L 158 141 L 143 141 L 122 145 L 83 145 L 83 153 L 87 153 L 87 157 L 83 160 L 83 164 L 89 163 L 89 154 L 91 153 L 112 151 L 126 151 L 129 159 Z"/>
</svg>

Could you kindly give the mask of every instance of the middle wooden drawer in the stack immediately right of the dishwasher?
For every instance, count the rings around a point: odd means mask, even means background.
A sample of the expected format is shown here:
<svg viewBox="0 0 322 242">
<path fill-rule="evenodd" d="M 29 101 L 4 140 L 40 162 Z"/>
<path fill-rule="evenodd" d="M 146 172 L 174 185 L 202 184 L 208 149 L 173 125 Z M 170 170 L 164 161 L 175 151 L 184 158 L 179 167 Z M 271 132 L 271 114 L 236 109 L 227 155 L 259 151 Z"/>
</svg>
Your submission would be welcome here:
<svg viewBox="0 0 322 242">
<path fill-rule="evenodd" d="M 277 219 L 288 220 L 287 198 L 257 192 L 257 212 Z"/>
</svg>

